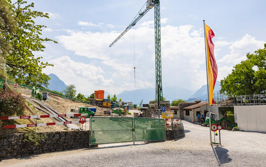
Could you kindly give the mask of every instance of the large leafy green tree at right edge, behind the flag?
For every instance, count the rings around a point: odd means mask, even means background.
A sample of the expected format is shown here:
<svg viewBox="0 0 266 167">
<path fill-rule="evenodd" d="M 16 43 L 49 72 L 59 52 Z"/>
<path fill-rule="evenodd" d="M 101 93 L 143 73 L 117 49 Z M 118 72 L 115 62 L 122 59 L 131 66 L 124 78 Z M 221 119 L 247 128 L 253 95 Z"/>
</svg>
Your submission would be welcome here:
<svg viewBox="0 0 266 167">
<path fill-rule="evenodd" d="M 236 64 L 232 72 L 221 80 L 220 93 L 227 96 L 266 93 L 266 44 L 254 54 L 247 54 L 247 60 Z"/>
</svg>

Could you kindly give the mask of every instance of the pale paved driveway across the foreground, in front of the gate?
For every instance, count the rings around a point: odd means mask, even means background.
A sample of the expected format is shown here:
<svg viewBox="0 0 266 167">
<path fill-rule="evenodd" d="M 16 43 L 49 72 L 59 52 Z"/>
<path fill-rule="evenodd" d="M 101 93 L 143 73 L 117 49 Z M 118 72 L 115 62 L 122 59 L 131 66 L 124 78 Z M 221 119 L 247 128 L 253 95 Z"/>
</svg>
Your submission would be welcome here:
<svg viewBox="0 0 266 167">
<path fill-rule="evenodd" d="M 210 146 L 209 128 L 183 121 L 178 141 L 99 145 L 4 160 L 2 167 L 266 167 L 266 134 L 222 130 L 222 147 Z M 218 139 L 218 137 L 217 137 Z"/>
</svg>

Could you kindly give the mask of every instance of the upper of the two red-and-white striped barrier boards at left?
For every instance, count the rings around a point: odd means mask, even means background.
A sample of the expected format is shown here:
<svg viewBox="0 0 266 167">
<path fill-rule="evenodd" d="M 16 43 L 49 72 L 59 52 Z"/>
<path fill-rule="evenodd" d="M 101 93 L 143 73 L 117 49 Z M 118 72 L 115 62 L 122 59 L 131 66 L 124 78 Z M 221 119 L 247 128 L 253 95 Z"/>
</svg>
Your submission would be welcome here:
<svg viewBox="0 0 266 167">
<path fill-rule="evenodd" d="M 5 119 L 35 119 L 35 118 L 55 118 L 67 116 L 87 116 L 88 113 L 73 113 L 73 114 L 57 114 L 57 115 L 25 115 L 25 116 L 0 116 L 0 120 Z"/>
</svg>

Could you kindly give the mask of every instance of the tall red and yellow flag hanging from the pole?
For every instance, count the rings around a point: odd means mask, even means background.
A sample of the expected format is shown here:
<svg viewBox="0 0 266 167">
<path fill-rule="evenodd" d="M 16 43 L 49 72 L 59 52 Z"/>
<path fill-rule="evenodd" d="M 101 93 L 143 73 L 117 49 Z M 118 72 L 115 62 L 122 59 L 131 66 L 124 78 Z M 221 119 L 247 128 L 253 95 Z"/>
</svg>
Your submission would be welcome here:
<svg viewBox="0 0 266 167">
<path fill-rule="evenodd" d="M 207 26 L 207 24 L 204 23 L 204 25 L 205 25 L 205 34 L 206 34 L 210 105 L 212 106 L 215 103 L 213 99 L 213 92 L 217 79 L 217 64 L 214 57 L 214 44 L 212 41 L 212 38 L 214 37 L 214 32 L 209 26 Z"/>
</svg>

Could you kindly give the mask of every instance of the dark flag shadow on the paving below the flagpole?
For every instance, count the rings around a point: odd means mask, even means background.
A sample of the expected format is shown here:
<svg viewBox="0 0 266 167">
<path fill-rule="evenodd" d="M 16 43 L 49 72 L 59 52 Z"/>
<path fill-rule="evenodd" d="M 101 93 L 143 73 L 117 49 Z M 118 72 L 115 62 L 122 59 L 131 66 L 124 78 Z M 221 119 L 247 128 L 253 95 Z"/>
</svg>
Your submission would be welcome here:
<svg viewBox="0 0 266 167">
<path fill-rule="evenodd" d="M 226 164 L 232 161 L 232 159 L 229 158 L 229 155 L 227 154 L 227 149 L 219 146 L 216 146 L 215 148 L 212 146 L 212 149 L 219 166 L 221 166 L 221 164 Z"/>
</svg>

